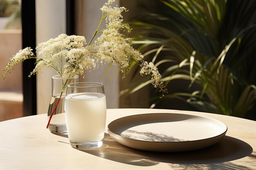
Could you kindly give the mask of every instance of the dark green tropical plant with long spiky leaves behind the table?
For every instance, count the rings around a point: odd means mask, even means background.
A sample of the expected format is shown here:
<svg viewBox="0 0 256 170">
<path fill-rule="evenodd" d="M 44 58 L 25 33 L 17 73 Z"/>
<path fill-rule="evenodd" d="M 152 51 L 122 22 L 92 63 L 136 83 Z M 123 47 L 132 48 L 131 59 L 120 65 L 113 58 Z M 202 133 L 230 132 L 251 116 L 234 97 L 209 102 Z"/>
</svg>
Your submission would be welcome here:
<svg viewBox="0 0 256 170">
<path fill-rule="evenodd" d="M 158 8 L 142 4 L 149 12 L 130 22 L 133 44 L 162 71 L 166 85 L 174 79 L 190 84 L 153 97 L 151 108 L 182 97 L 199 111 L 256 119 L 256 1 L 159 2 Z M 144 79 L 121 94 L 150 82 Z"/>
</svg>

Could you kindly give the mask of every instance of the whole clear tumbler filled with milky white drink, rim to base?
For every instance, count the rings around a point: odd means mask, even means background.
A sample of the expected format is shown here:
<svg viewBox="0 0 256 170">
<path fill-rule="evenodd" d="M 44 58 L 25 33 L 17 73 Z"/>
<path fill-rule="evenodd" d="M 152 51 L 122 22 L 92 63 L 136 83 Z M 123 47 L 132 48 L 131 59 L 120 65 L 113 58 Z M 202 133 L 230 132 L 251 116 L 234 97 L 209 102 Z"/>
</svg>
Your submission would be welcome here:
<svg viewBox="0 0 256 170">
<path fill-rule="evenodd" d="M 103 145 L 106 96 L 102 83 L 72 83 L 67 86 L 65 115 L 70 145 L 78 149 Z"/>
</svg>

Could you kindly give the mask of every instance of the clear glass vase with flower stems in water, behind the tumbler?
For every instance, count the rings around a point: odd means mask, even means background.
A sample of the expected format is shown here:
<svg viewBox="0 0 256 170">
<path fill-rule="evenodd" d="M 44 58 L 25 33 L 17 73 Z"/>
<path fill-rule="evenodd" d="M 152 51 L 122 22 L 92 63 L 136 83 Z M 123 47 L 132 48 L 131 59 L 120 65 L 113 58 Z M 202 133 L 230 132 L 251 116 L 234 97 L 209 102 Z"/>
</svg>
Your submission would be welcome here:
<svg viewBox="0 0 256 170">
<path fill-rule="evenodd" d="M 67 84 L 77 83 L 77 82 L 79 82 L 78 75 L 75 75 L 74 77 L 69 79 L 63 79 L 61 78 L 60 75 L 52 76 L 52 97 L 51 97 L 49 108 L 48 108 L 48 121 L 55 107 L 56 107 L 56 110 L 54 111 L 48 126 L 48 129 L 51 132 L 67 133 L 67 126 L 65 121 L 65 110 L 64 110 L 66 89 L 63 90 L 62 94 L 61 94 L 61 91 L 64 86 L 67 87 Z M 58 99 L 60 99 L 59 102 L 58 102 Z M 58 105 L 56 106 L 57 103 Z"/>
</svg>

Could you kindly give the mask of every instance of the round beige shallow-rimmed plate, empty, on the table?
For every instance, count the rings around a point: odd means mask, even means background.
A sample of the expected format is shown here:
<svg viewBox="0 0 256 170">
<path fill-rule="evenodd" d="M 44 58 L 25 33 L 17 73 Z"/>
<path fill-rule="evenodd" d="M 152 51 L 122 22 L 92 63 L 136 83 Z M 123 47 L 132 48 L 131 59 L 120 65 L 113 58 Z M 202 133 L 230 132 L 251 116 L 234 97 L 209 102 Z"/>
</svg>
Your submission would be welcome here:
<svg viewBox="0 0 256 170">
<path fill-rule="evenodd" d="M 108 125 L 109 135 L 130 148 L 181 152 L 206 148 L 227 132 L 221 121 L 177 113 L 148 113 L 122 117 Z"/>
</svg>

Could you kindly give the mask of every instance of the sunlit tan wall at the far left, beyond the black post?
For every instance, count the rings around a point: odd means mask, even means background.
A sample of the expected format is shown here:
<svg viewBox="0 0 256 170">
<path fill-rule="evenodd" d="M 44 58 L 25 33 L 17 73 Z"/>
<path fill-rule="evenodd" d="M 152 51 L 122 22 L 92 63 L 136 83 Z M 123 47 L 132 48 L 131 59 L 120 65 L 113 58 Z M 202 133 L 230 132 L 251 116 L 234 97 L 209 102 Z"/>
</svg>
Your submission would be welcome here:
<svg viewBox="0 0 256 170">
<path fill-rule="evenodd" d="M 0 30 L 0 75 L 21 48 L 21 30 Z M 0 121 L 22 117 L 22 63 L 14 66 L 6 79 L 0 77 Z"/>
</svg>

